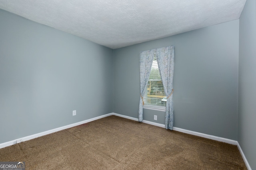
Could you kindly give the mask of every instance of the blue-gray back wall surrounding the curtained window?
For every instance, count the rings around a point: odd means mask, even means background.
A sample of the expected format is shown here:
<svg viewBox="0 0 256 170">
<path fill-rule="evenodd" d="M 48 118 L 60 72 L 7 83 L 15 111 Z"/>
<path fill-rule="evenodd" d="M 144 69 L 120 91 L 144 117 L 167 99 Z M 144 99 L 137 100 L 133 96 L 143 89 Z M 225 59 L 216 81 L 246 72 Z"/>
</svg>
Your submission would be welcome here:
<svg viewBox="0 0 256 170">
<path fill-rule="evenodd" d="M 139 52 L 170 45 L 174 126 L 237 140 L 239 20 L 114 50 L 114 112 L 138 118 Z M 164 114 L 144 109 L 144 120 Z"/>
</svg>

